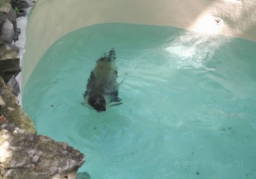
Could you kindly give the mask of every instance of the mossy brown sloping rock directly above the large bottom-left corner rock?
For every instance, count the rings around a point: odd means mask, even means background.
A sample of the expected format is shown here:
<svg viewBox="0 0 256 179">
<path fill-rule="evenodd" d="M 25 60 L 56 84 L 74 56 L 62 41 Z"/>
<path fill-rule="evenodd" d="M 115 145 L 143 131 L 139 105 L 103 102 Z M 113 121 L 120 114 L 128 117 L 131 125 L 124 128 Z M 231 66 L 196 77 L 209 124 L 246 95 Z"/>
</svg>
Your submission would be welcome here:
<svg viewBox="0 0 256 179">
<path fill-rule="evenodd" d="M 24 132 L 35 134 L 35 125 L 31 121 L 29 116 L 22 111 L 22 108 L 20 107 L 17 98 L 12 93 L 12 89 L 7 85 L 3 86 L 3 84 L 4 81 L 0 77 L 0 87 L 2 86 L 0 88 L 0 95 L 5 104 L 4 106 L 1 105 L 1 113 L 3 113 L 6 118 L 5 123 L 0 123 L 0 128 L 5 128 L 8 129 L 10 132 L 13 132 L 13 130 L 15 130 L 15 128 L 17 127 L 21 130 L 24 130 Z"/>
</svg>

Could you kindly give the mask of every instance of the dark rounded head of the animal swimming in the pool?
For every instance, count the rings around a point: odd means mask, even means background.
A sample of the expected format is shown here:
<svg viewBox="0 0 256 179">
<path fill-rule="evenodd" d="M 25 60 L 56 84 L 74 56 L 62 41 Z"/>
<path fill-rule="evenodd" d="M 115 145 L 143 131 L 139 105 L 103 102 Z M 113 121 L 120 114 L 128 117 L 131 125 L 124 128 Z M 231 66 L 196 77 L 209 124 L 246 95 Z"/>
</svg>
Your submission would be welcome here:
<svg viewBox="0 0 256 179">
<path fill-rule="evenodd" d="M 106 100 L 102 95 L 92 95 L 88 103 L 98 112 L 106 111 Z"/>
</svg>

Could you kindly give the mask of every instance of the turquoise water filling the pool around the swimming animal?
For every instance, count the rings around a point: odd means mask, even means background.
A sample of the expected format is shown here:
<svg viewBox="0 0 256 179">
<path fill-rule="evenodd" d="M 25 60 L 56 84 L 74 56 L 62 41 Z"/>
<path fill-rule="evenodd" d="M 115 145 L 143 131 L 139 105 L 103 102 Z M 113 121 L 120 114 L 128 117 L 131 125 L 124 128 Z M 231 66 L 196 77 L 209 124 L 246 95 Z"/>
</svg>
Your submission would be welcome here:
<svg viewBox="0 0 256 179">
<path fill-rule="evenodd" d="M 81 105 L 116 50 L 122 105 Z M 92 178 L 255 178 L 256 43 L 175 27 L 100 24 L 54 43 L 24 90 L 38 134 L 85 154 Z"/>
</svg>

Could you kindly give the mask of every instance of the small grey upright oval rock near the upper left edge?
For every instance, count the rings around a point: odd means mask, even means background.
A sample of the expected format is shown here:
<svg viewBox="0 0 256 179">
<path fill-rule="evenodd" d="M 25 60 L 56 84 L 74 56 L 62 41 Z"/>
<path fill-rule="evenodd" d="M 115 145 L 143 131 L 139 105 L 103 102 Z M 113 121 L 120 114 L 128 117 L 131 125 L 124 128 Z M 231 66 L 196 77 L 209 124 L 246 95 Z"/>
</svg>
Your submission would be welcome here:
<svg viewBox="0 0 256 179">
<path fill-rule="evenodd" d="M 12 43 L 13 38 L 15 35 L 15 31 L 13 28 L 12 22 L 10 20 L 6 19 L 5 22 L 3 23 L 2 31 L 1 31 L 1 36 L 3 38 L 3 41 L 6 43 Z"/>
</svg>

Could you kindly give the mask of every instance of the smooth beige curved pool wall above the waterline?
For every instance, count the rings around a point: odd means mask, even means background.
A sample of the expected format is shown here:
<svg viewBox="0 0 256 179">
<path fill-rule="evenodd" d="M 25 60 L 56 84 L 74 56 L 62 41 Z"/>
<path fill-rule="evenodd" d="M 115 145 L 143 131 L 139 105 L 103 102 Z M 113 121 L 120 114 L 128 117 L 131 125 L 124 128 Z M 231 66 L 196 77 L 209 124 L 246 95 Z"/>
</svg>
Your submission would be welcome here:
<svg viewBox="0 0 256 179">
<path fill-rule="evenodd" d="M 256 41 L 256 0 L 38 0 L 27 27 L 22 89 L 58 38 L 108 22 L 175 26 Z"/>
</svg>

